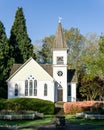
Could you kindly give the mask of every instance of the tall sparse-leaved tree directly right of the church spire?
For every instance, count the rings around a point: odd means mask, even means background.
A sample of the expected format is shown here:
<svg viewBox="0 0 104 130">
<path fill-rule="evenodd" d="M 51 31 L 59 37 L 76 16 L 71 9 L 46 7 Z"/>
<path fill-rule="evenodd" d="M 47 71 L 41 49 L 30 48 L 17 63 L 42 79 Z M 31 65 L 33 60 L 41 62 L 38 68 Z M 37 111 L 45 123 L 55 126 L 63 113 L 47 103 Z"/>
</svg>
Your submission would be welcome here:
<svg viewBox="0 0 104 130">
<path fill-rule="evenodd" d="M 78 59 L 82 55 L 85 37 L 80 34 L 78 28 L 64 30 L 66 42 L 68 45 L 68 65 L 74 69 L 78 69 Z"/>
</svg>

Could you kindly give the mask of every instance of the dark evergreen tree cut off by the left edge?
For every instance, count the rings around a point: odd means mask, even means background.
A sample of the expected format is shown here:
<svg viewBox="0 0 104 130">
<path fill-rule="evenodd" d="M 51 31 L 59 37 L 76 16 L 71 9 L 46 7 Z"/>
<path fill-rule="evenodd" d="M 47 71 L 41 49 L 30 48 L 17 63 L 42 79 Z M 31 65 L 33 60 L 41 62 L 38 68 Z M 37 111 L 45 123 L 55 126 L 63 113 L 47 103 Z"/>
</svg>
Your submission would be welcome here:
<svg viewBox="0 0 104 130">
<path fill-rule="evenodd" d="M 13 60 L 9 57 L 9 41 L 3 23 L 0 21 L 0 97 L 7 96 L 6 79 Z"/>
</svg>

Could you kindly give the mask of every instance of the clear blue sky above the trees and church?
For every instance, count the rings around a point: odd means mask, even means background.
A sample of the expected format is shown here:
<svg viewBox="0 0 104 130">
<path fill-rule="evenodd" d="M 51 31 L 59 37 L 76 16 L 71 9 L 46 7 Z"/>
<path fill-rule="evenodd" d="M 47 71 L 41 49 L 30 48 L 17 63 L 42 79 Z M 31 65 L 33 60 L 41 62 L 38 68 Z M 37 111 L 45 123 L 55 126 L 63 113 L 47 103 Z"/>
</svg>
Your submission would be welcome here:
<svg viewBox="0 0 104 130">
<path fill-rule="evenodd" d="M 32 43 L 55 34 L 59 16 L 64 29 L 104 33 L 104 0 L 0 0 L 0 20 L 8 37 L 18 7 L 23 8 Z"/>
</svg>

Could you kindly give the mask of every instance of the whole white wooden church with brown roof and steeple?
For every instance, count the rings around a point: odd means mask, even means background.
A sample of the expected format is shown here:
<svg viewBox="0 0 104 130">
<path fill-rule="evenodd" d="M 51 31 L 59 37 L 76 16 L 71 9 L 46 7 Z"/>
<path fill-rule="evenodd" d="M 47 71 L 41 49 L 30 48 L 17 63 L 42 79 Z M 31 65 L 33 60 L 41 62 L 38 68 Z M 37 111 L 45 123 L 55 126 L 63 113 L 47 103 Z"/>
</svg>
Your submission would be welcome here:
<svg viewBox="0 0 104 130">
<path fill-rule="evenodd" d="M 61 22 L 58 23 L 52 51 L 52 64 L 39 64 L 31 57 L 24 64 L 13 65 L 7 80 L 8 98 L 76 101 L 77 77 L 75 70 L 67 66 L 67 45 Z"/>
</svg>

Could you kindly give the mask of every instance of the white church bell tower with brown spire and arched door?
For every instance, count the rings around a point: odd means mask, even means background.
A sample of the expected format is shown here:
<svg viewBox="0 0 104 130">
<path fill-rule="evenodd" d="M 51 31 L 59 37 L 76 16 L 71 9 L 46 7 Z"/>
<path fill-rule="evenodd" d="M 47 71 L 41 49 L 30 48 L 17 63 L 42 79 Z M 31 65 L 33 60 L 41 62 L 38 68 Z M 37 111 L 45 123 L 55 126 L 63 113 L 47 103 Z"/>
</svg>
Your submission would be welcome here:
<svg viewBox="0 0 104 130">
<path fill-rule="evenodd" d="M 55 80 L 55 101 L 67 101 L 67 44 L 61 21 L 53 44 L 53 78 Z"/>
</svg>

